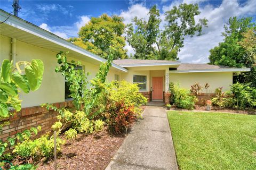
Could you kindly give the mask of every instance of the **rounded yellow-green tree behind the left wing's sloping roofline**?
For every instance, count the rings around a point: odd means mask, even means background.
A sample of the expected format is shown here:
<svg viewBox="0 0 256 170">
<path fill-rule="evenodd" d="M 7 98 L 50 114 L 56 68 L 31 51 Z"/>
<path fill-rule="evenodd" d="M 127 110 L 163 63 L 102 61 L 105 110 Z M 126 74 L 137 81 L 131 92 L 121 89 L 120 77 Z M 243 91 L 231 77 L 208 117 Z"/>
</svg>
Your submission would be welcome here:
<svg viewBox="0 0 256 170">
<path fill-rule="evenodd" d="M 90 52 L 107 58 L 111 47 L 114 49 L 114 60 L 127 58 L 124 49 L 125 39 L 122 36 L 125 25 L 123 18 L 102 14 L 99 18 L 92 17 L 78 32 L 78 37 L 69 41 Z"/>
</svg>

